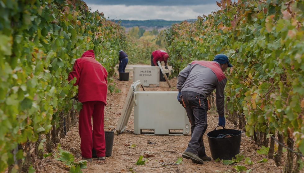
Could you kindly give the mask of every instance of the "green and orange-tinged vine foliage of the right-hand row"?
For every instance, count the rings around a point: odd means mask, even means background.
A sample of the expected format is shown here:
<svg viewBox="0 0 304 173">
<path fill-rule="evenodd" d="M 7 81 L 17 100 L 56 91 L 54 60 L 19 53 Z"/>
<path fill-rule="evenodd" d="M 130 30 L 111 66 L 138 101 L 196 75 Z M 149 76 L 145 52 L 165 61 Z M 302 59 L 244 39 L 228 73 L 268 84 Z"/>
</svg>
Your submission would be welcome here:
<svg viewBox="0 0 304 173">
<path fill-rule="evenodd" d="M 172 74 L 193 60 L 226 54 L 230 112 L 244 113 L 246 134 L 283 132 L 304 153 L 304 1 L 221 1 L 220 10 L 165 31 Z"/>
</svg>

